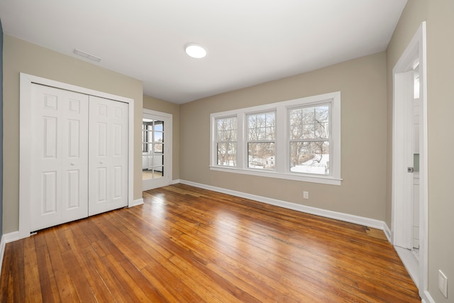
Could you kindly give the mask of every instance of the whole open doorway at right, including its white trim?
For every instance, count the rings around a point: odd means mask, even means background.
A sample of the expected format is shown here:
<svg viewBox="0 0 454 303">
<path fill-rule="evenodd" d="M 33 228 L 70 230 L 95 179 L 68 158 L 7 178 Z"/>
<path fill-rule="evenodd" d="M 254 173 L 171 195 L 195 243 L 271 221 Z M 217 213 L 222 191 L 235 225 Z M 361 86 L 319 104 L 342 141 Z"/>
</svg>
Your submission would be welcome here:
<svg viewBox="0 0 454 303">
<path fill-rule="evenodd" d="M 425 22 L 392 72 L 392 243 L 424 298 L 428 288 Z"/>
</svg>

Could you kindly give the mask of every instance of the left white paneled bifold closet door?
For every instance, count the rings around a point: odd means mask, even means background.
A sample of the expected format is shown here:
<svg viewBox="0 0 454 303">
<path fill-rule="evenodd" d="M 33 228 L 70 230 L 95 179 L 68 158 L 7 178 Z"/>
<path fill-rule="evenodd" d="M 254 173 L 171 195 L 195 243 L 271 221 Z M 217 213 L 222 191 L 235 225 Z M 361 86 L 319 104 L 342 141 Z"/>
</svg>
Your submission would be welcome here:
<svg viewBox="0 0 454 303">
<path fill-rule="evenodd" d="M 88 215 L 88 100 L 32 84 L 31 230 Z"/>
</svg>

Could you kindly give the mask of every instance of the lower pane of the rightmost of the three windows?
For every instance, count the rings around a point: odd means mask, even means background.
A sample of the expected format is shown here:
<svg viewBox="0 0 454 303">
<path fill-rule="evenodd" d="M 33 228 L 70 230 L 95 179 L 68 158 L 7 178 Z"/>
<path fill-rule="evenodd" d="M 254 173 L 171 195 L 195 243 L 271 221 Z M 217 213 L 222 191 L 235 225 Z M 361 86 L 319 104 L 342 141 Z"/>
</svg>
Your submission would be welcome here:
<svg viewBox="0 0 454 303">
<path fill-rule="evenodd" d="M 290 171 L 329 175 L 329 141 L 290 142 Z"/>
</svg>

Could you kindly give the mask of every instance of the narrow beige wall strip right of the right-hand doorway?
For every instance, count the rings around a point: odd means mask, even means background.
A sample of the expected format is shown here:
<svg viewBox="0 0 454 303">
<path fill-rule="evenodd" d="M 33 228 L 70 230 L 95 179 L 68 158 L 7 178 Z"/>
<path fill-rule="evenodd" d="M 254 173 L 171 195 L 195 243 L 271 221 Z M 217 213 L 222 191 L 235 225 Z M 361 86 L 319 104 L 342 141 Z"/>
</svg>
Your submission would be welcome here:
<svg viewBox="0 0 454 303">
<path fill-rule="evenodd" d="M 428 1 L 428 272 L 436 302 L 454 302 L 454 1 Z M 438 291 L 438 269 L 449 299 Z"/>
</svg>

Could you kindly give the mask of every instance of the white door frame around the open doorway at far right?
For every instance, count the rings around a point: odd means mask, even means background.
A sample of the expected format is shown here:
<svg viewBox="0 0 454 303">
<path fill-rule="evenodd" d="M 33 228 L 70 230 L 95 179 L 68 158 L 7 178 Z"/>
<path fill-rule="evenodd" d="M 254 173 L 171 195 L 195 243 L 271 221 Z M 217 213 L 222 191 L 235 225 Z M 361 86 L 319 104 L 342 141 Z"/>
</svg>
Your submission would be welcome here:
<svg viewBox="0 0 454 303">
<path fill-rule="evenodd" d="M 428 290 L 428 135 L 427 135 L 427 62 L 426 22 L 421 23 L 406 50 L 392 70 L 393 75 L 393 117 L 392 117 L 392 244 L 406 246 L 411 236 L 411 187 L 413 175 L 406 167 L 413 167 L 411 145 L 413 127 L 413 104 L 409 104 L 409 77 L 414 63 L 419 62 L 419 263 L 411 251 L 397 248 L 421 298 Z M 411 93 L 412 94 L 412 93 Z M 412 99 L 411 99 L 412 100 Z M 405 102 L 406 101 L 406 102 Z M 410 193 L 409 193 L 410 192 Z M 408 253 L 409 252 L 409 253 Z M 413 261 L 412 261 L 413 260 Z M 412 265 L 413 262 L 413 265 Z M 415 268 L 416 267 L 416 268 Z"/>
</svg>

